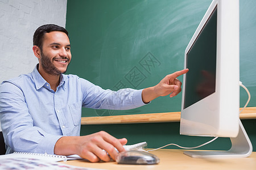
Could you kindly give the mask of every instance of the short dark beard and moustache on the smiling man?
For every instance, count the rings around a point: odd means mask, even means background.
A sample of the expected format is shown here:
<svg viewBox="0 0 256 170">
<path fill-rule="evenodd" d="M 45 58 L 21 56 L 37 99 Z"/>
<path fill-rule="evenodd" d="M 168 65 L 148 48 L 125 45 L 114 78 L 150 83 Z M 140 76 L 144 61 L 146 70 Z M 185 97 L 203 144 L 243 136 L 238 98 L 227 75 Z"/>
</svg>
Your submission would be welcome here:
<svg viewBox="0 0 256 170">
<path fill-rule="evenodd" d="M 51 59 L 49 57 L 47 57 L 46 55 L 44 55 L 43 52 L 41 52 L 41 65 L 42 65 L 44 71 L 46 71 L 46 73 L 51 74 L 51 75 L 60 75 L 60 74 L 66 73 L 68 67 L 65 71 L 60 71 L 53 64 L 53 61 L 55 59 L 68 59 L 67 62 L 69 62 L 69 60 L 70 60 L 68 57 L 54 57 L 54 58 L 52 58 L 52 61 L 51 61 Z"/>
</svg>

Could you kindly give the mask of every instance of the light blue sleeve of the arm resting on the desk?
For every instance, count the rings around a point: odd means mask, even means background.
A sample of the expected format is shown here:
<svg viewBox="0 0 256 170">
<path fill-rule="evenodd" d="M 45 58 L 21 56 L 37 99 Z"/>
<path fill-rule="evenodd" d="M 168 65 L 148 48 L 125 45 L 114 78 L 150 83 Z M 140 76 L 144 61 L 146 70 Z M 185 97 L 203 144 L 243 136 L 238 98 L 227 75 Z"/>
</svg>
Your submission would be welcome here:
<svg viewBox="0 0 256 170">
<path fill-rule="evenodd" d="M 9 154 L 14 151 L 53 154 L 56 141 L 62 137 L 33 125 L 23 92 L 13 83 L 0 86 L 0 120 Z"/>
</svg>

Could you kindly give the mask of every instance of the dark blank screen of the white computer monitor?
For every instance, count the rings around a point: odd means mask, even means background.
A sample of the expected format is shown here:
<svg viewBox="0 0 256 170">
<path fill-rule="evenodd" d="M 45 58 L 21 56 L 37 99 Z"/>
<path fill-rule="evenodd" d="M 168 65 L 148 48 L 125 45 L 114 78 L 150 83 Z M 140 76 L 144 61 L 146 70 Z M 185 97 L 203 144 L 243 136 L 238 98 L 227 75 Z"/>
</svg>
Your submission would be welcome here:
<svg viewBox="0 0 256 170">
<path fill-rule="evenodd" d="M 187 53 L 184 108 L 213 94 L 216 87 L 217 7 Z"/>
</svg>

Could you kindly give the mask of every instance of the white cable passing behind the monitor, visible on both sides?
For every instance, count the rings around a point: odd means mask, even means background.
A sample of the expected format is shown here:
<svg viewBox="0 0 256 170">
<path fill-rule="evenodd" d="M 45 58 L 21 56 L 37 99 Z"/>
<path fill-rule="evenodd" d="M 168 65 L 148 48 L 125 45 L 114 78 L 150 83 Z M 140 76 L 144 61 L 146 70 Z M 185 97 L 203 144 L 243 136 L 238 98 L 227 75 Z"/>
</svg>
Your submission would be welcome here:
<svg viewBox="0 0 256 170">
<path fill-rule="evenodd" d="M 247 100 L 245 106 L 241 109 L 241 111 L 240 111 L 240 113 L 241 113 L 241 112 L 243 111 L 243 109 L 245 109 L 245 108 L 247 107 L 247 104 L 249 103 L 249 101 L 250 101 L 250 99 L 251 99 L 251 95 L 250 95 L 249 90 L 248 90 L 245 86 L 243 86 L 242 82 L 239 82 L 239 85 L 240 85 L 242 88 L 244 88 L 245 91 L 246 91 L 247 94 L 248 94 L 248 100 Z M 180 148 L 184 148 L 184 149 L 195 149 L 195 148 L 199 148 L 199 147 L 201 147 L 201 146 L 207 145 L 207 144 L 209 144 L 209 143 L 215 141 L 217 138 L 218 138 L 218 137 L 215 137 L 215 138 L 213 138 L 212 140 L 210 140 L 210 141 L 208 141 L 208 142 L 206 142 L 206 143 L 204 143 L 204 144 L 202 144 L 202 145 L 196 146 L 196 147 L 183 147 L 183 146 L 179 146 L 179 145 L 177 145 L 177 144 L 175 144 L 175 143 L 170 143 L 170 144 L 168 144 L 168 145 L 165 145 L 165 146 L 162 146 L 162 147 L 159 147 L 159 148 L 155 148 L 154 150 L 147 150 L 147 152 L 159 150 L 160 148 L 164 148 L 164 147 L 167 147 L 167 146 L 170 146 L 170 145 L 174 145 L 174 146 L 177 146 L 177 147 L 180 147 Z"/>
</svg>

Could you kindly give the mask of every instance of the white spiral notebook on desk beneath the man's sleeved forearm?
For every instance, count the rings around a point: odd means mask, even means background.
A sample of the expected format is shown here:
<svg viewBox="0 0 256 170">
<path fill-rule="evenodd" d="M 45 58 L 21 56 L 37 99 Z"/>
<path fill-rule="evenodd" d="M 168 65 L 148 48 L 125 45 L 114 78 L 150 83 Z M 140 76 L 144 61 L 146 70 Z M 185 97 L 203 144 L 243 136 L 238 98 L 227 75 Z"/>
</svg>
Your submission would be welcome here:
<svg viewBox="0 0 256 170">
<path fill-rule="evenodd" d="M 46 160 L 48 162 L 59 162 L 59 161 L 67 160 L 67 156 L 36 154 L 36 153 L 29 153 L 29 152 L 14 152 L 13 154 L 0 155 L 0 159 L 6 159 L 6 158 L 30 158 L 30 159 Z"/>
</svg>

